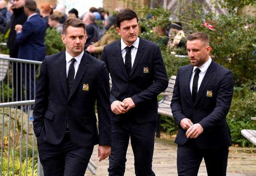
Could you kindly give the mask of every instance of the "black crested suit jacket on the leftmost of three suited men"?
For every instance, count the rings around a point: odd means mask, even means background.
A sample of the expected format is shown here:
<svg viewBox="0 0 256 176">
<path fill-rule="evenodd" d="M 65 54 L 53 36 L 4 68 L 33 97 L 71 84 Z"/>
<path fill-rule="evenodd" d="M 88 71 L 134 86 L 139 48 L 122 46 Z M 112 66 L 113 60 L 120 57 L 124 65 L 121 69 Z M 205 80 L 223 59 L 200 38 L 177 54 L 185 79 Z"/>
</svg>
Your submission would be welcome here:
<svg viewBox="0 0 256 176">
<path fill-rule="evenodd" d="M 106 64 L 84 53 L 68 94 L 65 51 L 46 56 L 40 68 L 34 106 L 34 132 L 59 144 L 66 125 L 78 147 L 110 146 L 110 88 Z M 99 135 L 94 111 L 97 100 Z"/>
</svg>

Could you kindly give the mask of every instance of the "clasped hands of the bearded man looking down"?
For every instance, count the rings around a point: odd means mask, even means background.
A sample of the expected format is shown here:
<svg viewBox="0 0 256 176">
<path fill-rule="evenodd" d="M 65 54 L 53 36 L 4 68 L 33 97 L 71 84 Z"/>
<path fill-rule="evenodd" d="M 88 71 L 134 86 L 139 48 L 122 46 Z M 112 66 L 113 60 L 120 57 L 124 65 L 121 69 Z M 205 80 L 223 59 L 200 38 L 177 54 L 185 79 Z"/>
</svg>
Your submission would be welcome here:
<svg viewBox="0 0 256 176">
<path fill-rule="evenodd" d="M 187 129 L 187 138 L 197 138 L 204 131 L 204 128 L 202 125 L 200 125 L 200 123 L 193 124 L 192 121 L 188 118 L 182 119 L 180 121 L 180 126 L 182 129 Z"/>
</svg>

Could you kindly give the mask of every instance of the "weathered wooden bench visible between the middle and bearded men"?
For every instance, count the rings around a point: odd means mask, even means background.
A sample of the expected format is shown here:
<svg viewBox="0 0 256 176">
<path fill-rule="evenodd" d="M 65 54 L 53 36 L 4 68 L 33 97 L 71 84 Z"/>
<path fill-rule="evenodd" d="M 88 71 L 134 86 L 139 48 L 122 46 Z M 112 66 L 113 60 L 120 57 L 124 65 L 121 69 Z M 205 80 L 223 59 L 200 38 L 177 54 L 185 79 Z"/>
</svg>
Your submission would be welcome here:
<svg viewBox="0 0 256 176">
<path fill-rule="evenodd" d="M 168 88 L 164 92 L 160 93 L 160 95 L 163 95 L 163 98 L 158 102 L 158 119 L 156 123 L 156 137 L 160 137 L 161 115 L 173 117 L 170 104 L 172 100 L 172 92 L 173 92 L 175 80 L 176 80 L 176 76 L 171 76 L 169 80 Z"/>
</svg>

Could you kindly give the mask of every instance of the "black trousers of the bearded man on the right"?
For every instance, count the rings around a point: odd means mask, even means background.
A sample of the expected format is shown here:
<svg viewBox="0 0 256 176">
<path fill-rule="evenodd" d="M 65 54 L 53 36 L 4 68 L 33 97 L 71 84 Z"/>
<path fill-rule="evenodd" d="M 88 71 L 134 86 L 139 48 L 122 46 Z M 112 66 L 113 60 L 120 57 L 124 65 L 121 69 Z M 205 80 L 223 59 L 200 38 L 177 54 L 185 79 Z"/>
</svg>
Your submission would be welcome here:
<svg viewBox="0 0 256 176">
<path fill-rule="evenodd" d="M 228 147 L 220 149 L 199 149 L 194 139 L 178 145 L 177 169 L 179 176 L 197 176 L 204 158 L 208 176 L 226 176 Z"/>
</svg>

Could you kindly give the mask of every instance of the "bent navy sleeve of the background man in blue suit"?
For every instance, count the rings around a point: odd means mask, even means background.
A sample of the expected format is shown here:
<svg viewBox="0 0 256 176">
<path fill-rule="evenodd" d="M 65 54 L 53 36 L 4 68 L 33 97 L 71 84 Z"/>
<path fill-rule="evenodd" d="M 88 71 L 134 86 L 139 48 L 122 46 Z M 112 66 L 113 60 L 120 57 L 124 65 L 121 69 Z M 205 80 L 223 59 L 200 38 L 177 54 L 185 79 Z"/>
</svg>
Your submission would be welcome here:
<svg viewBox="0 0 256 176">
<path fill-rule="evenodd" d="M 24 45 L 28 42 L 30 35 L 33 31 L 33 27 L 30 22 L 26 22 L 22 26 L 22 32 L 17 33 L 16 41 L 19 45 Z"/>
</svg>

